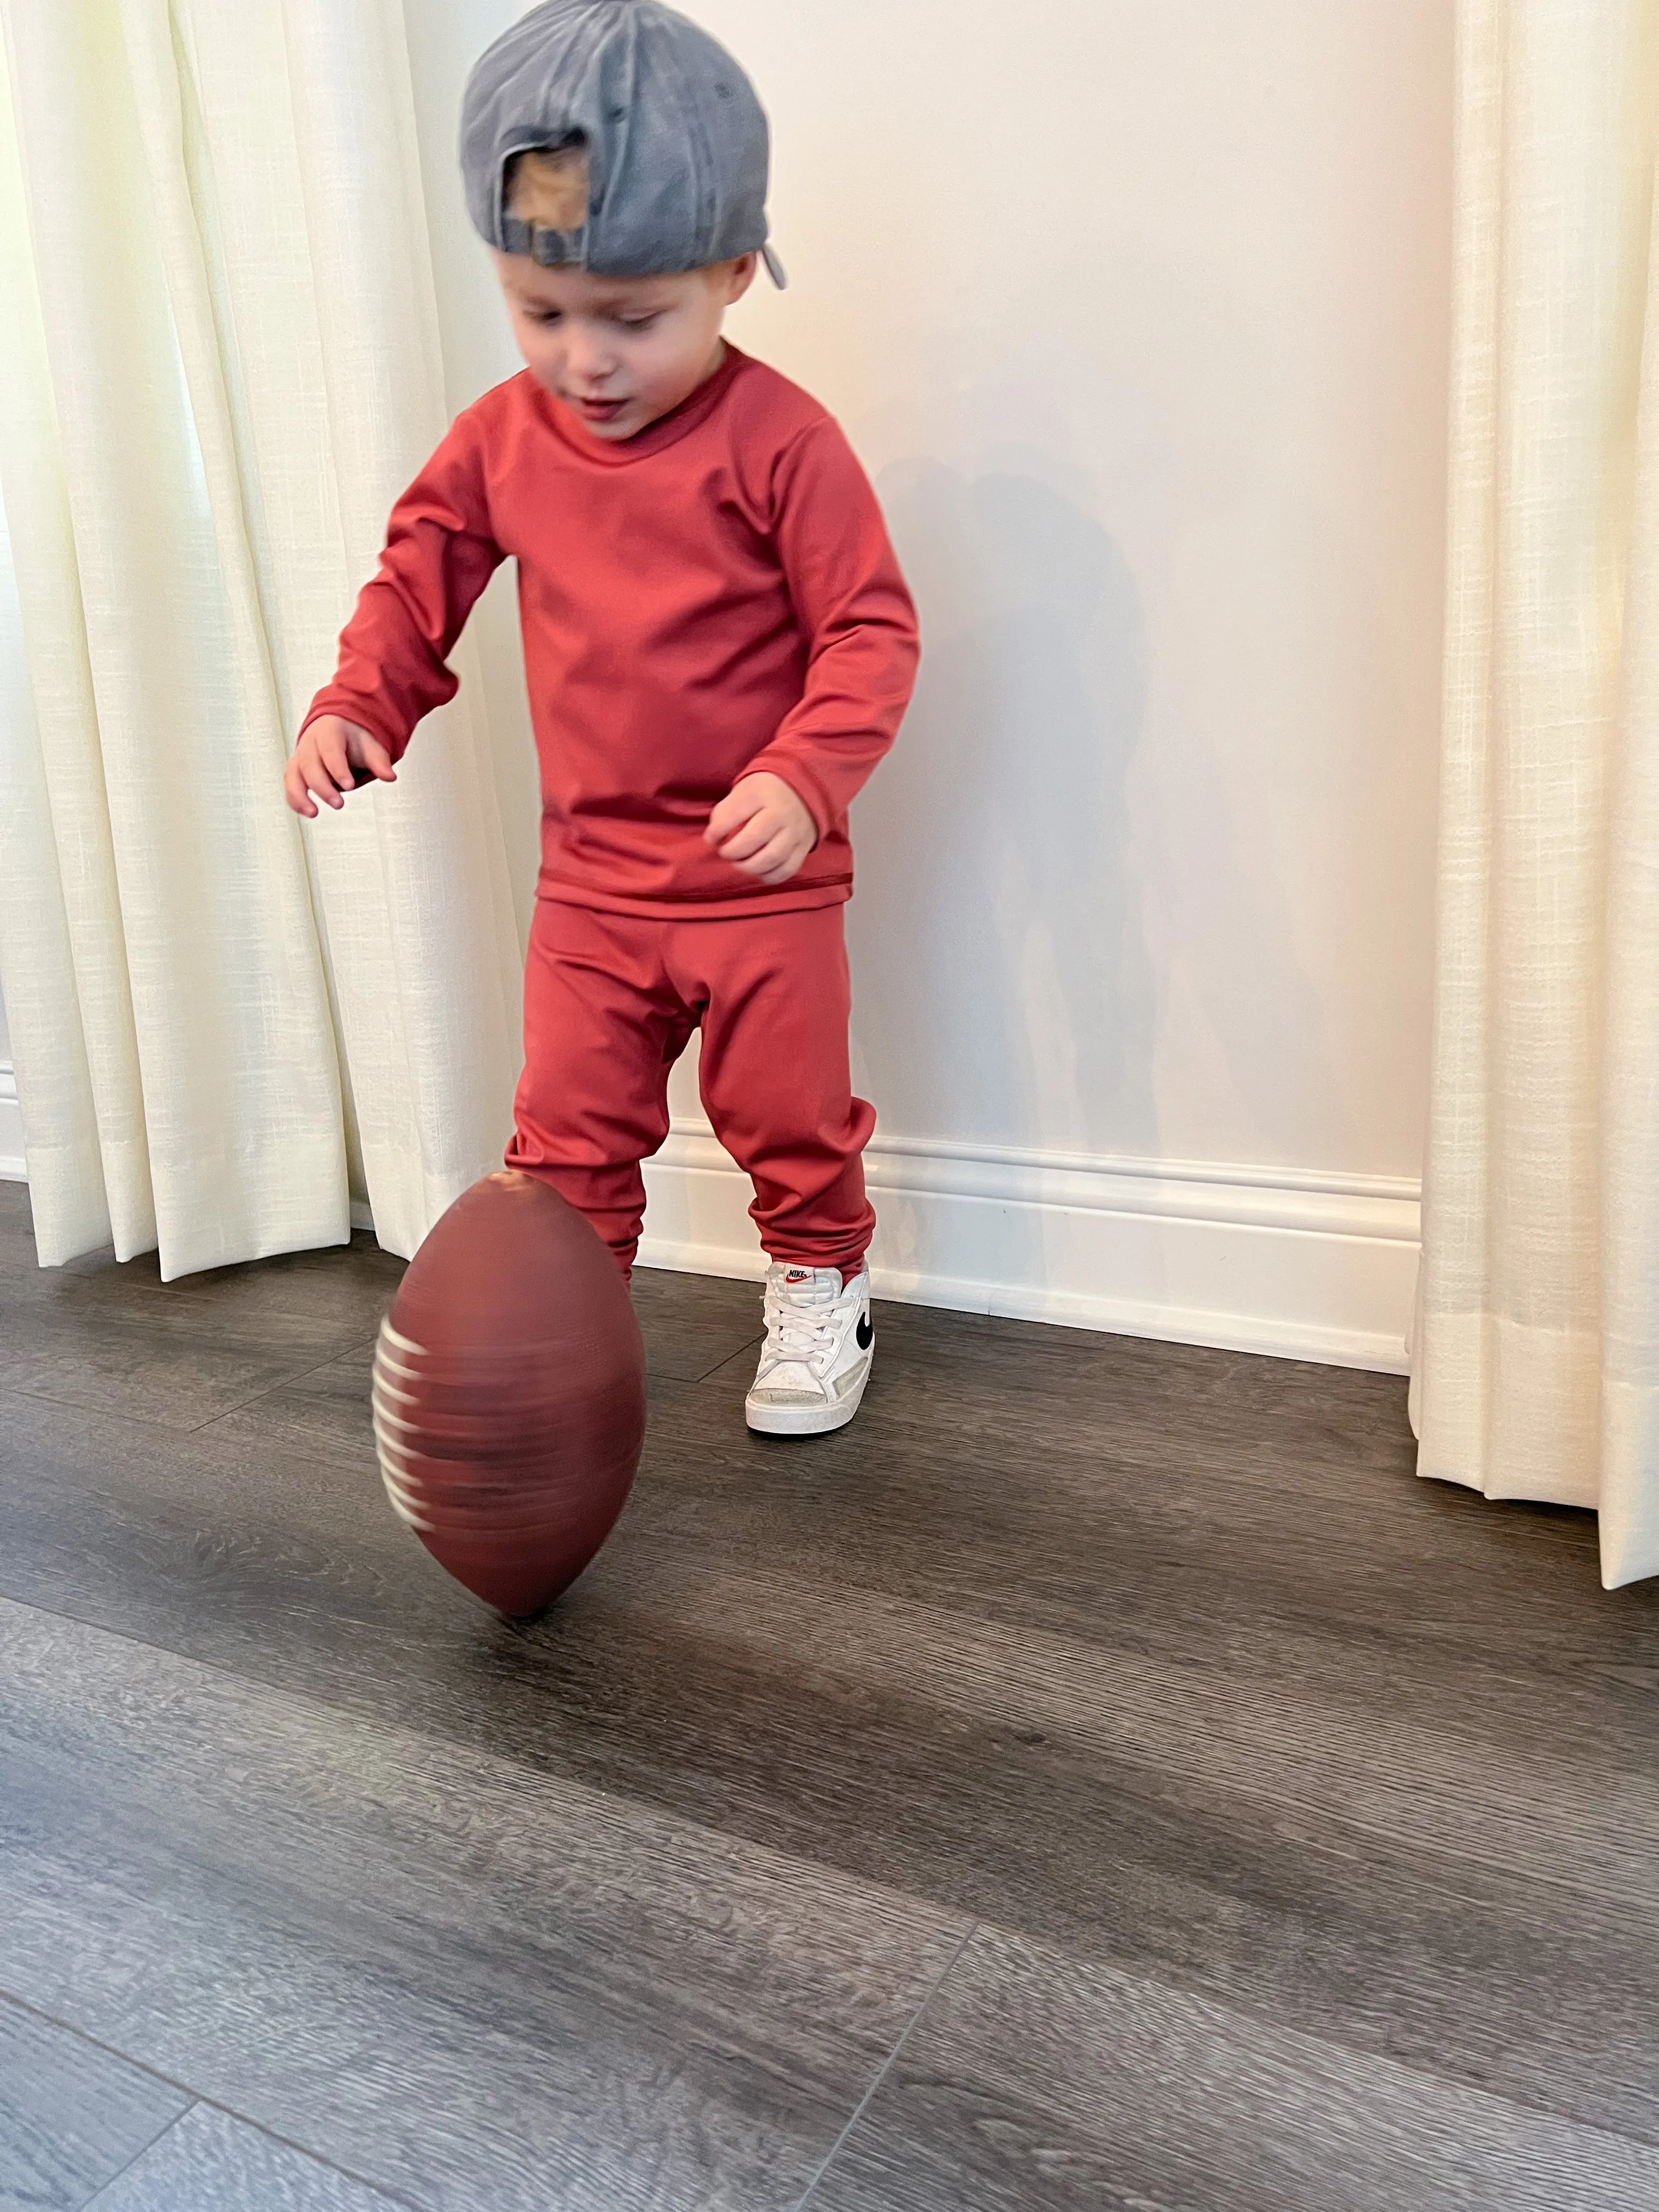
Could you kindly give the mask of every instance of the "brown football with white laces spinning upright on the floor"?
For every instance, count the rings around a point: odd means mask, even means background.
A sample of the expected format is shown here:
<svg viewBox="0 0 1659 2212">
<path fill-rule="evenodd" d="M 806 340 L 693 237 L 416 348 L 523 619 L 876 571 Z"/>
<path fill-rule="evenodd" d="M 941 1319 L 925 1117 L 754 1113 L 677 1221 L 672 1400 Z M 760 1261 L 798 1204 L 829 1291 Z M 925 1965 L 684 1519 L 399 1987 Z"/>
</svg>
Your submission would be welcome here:
<svg viewBox="0 0 1659 2212">
<path fill-rule="evenodd" d="M 409 1261 L 374 1349 L 387 1495 L 513 1619 L 611 1535 L 646 1438 L 646 1356 L 617 1263 L 573 1206 L 502 1170 Z"/>
</svg>

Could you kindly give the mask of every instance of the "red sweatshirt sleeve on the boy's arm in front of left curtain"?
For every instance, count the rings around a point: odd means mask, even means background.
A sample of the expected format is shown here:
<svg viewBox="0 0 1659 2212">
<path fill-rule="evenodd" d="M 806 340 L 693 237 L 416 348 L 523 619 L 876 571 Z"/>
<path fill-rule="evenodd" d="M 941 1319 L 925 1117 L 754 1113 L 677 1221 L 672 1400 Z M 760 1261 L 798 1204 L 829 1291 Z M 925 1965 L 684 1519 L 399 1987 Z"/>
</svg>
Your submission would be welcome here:
<svg viewBox="0 0 1659 2212">
<path fill-rule="evenodd" d="M 319 714 L 356 721 L 403 759 L 414 726 L 460 690 L 445 666 L 473 599 L 504 560 L 489 526 L 480 431 L 460 416 L 392 509 L 380 566 L 341 630 L 334 681 Z"/>
</svg>

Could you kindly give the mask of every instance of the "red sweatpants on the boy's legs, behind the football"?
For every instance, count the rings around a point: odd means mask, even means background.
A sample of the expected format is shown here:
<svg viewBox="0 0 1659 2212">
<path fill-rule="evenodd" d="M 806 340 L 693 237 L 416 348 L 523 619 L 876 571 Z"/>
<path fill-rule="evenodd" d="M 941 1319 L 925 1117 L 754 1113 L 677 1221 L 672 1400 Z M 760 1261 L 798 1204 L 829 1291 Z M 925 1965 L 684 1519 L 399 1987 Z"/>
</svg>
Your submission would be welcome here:
<svg viewBox="0 0 1659 2212">
<path fill-rule="evenodd" d="M 588 1217 L 624 1274 L 668 1135 L 668 1071 L 703 1033 L 714 1135 L 754 1183 L 772 1259 L 852 1272 L 876 1225 L 852 1095 L 841 907 L 657 922 L 538 898 L 524 964 L 524 1075 L 507 1166 Z"/>
</svg>

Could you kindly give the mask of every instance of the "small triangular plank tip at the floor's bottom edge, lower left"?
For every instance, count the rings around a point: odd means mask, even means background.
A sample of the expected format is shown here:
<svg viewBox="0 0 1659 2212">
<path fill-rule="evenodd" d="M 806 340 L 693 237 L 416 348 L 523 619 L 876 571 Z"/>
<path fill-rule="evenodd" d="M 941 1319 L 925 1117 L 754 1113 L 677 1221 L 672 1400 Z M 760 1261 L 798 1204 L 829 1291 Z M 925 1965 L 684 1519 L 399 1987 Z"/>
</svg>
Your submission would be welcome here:
<svg viewBox="0 0 1659 2212">
<path fill-rule="evenodd" d="M 86 2212 L 396 2212 L 389 2197 L 197 2104 Z"/>
</svg>

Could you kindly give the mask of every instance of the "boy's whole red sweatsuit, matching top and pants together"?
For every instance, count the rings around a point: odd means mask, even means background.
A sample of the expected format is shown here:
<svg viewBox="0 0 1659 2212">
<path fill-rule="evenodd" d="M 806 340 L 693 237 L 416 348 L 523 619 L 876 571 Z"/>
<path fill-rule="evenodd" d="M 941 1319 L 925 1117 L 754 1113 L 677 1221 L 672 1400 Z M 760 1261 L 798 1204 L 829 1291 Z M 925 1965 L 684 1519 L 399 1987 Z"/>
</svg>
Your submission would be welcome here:
<svg viewBox="0 0 1659 2212">
<path fill-rule="evenodd" d="M 380 568 L 312 701 L 398 759 L 456 692 L 445 666 L 518 560 L 542 763 L 542 869 L 509 1161 L 580 1206 L 628 1267 L 639 1159 L 703 1029 L 703 1104 L 757 1183 L 772 1259 L 856 1267 L 874 1113 L 847 1073 L 847 805 L 916 677 L 916 611 L 834 418 L 737 347 L 606 445 L 524 372 L 487 392 L 392 511 Z M 818 843 L 783 885 L 703 843 L 770 770 Z"/>
</svg>

